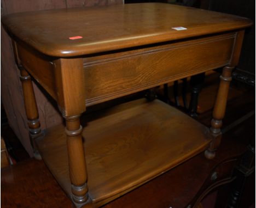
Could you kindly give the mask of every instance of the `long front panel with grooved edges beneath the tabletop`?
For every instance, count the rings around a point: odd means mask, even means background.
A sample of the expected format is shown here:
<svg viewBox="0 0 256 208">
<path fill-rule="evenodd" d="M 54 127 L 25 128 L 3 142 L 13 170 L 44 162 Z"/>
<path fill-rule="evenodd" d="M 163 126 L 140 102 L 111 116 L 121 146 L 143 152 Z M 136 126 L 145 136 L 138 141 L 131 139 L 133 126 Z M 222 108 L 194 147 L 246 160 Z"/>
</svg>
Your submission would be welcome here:
<svg viewBox="0 0 256 208">
<path fill-rule="evenodd" d="M 230 61 L 234 39 L 231 33 L 85 58 L 86 104 L 224 66 Z"/>
</svg>

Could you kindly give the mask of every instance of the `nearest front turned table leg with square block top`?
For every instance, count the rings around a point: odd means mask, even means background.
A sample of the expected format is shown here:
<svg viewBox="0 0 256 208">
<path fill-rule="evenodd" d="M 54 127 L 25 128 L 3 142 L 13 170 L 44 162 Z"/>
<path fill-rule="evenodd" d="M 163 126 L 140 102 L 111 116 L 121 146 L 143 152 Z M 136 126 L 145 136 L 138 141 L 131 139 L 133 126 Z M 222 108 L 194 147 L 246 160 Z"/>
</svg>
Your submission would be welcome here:
<svg viewBox="0 0 256 208">
<path fill-rule="evenodd" d="M 79 206 L 91 206 L 80 115 L 86 111 L 83 59 L 54 61 L 57 102 L 66 120 L 69 178 L 72 199 Z"/>
</svg>

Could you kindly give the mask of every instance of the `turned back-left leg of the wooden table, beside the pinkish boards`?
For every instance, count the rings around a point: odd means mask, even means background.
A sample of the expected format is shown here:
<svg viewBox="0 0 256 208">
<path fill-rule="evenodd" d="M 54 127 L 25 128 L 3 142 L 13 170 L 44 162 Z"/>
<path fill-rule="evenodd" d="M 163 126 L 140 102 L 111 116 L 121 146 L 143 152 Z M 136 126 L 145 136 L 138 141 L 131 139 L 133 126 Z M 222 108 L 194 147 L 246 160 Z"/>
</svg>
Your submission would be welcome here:
<svg viewBox="0 0 256 208">
<path fill-rule="evenodd" d="M 27 71 L 22 67 L 19 66 L 20 69 L 20 80 L 22 83 L 22 90 L 24 95 L 24 103 L 25 103 L 25 111 L 28 119 L 28 128 L 30 131 L 30 139 L 31 145 L 34 150 L 34 157 L 38 160 L 41 160 L 41 156 L 36 149 L 36 145 L 34 144 L 34 139 L 41 136 L 42 132 L 40 129 L 40 122 L 38 120 L 38 109 L 36 98 L 34 96 L 33 85 L 31 81 L 30 75 Z"/>
</svg>

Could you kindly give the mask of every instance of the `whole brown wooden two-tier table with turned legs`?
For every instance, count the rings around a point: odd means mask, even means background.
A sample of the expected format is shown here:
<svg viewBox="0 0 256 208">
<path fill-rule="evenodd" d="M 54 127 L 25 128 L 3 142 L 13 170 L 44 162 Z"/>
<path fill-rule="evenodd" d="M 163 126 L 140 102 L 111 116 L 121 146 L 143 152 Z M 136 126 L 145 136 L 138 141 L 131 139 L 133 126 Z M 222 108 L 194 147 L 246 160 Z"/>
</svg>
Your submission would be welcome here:
<svg viewBox="0 0 256 208">
<path fill-rule="evenodd" d="M 13 39 L 34 145 L 79 206 L 98 207 L 220 143 L 231 71 L 248 19 L 145 3 L 46 10 L 2 18 Z M 212 127 L 144 99 L 86 107 L 224 66 Z M 31 77 L 56 100 L 66 127 L 42 133 Z"/>
</svg>

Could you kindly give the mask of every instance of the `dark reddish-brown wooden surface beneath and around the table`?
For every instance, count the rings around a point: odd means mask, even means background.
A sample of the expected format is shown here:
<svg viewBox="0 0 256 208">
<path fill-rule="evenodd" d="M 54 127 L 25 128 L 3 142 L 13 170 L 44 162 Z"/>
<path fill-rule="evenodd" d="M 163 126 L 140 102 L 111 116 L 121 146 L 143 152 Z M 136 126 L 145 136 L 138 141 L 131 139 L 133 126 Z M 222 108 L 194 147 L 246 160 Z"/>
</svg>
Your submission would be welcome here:
<svg viewBox="0 0 256 208">
<path fill-rule="evenodd" d="M 216 76 L 216 75 L 214 75 Z M 200 114 L 198 120 L 210 125 L 212 105 L 209 91 L 214 91 L 214 77 L 208 77 L 199 98 Z M 214 100 L 214 99 L 212 99 Z M 199 154 L 167 173 L 158 176 L 125 194 L 104 207 L 187 207 L 206 187 L 209 175 L 218 164 L 231 161 L 246 151 L 250 138 L 255 138 L 255 90 L 245 85 L 232 83 L 226 117 L 223 121 L 224 135 L 222 145 L 214 160 L 206 160 Z M 5 139 L 8 128 L 1 126 Z M 10 133 L 11 134 L 11 133 Z M 13 135 L 11 137 L 14 137 Z M 10 142 L 10 144 L 15 144 Z M 18 143 L 16 143 L 16 146 Z M 21 149 L 13 149 L 17 164 L 1 169 L 1 206 L 2 207 L 72 207 L 58 183 L 42 161 L 27 159 Z M 18 158 L 18 159 L 17 159 Z M 231 164 L 231 163 L 229 163 Z M 247 191 L 254 190 L 254 184 Z M 212 199 L 212 200 L 215 200 Z M 207 204 L 208 203 L 208 204 Z M 210 206 L 211 204 L 211 206 Z M 214 201 L 203 203 L 203 207 L 213 207 Z"/>
</svg>

